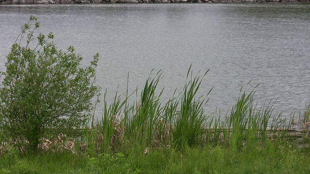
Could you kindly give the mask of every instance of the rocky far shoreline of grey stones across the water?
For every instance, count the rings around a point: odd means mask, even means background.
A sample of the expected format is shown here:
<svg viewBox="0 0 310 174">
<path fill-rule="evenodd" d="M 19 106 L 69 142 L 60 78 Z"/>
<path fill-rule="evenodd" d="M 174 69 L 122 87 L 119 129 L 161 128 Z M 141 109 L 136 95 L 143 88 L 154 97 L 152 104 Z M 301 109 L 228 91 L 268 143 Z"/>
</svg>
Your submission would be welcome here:
<svg viewBox="0 0 310 174">
<path fill-rule="evenodd" d="M 225 3 L 225 2 L 310 2 L 310 0 L 0 0 L 11 4 L 81 4 L 81 3 Z"/>
</svg>

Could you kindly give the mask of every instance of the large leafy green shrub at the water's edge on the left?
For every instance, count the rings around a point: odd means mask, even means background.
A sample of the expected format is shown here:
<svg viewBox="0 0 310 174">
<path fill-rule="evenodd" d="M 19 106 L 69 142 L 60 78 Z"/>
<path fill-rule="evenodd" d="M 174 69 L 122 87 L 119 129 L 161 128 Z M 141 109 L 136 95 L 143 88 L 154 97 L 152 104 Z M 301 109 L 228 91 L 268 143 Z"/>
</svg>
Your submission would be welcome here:
<svg viewBox="0 0 310 174">
<path fill-rule="evenodd" d="M 89 66 L 81 68 L 82 57 L 72 46 L 66 52 L 57 50 L 51 32 L 39 34 L 34 44 L 34 31 L 40 25 L 36 22 L 33 29 L 31 25 L 36 20 L 31 16 L 22 26 L 7 56 L 6 72 L 1 72 L 0 87 L 0 129 L 4 132 L 0 139 L 33 151 L 47 130 L 70 130 L 85 123 L 100 90 L 93 84 L 98 53 Z"/>
</svg>

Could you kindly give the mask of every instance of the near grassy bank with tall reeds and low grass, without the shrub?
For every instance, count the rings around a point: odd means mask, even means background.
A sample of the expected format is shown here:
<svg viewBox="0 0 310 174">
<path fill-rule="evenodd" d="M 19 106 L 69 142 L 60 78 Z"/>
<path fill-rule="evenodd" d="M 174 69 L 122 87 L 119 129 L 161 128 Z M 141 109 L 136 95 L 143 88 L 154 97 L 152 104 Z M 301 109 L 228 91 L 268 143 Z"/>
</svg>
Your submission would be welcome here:
<svg viewBox="0 0 310 174">
<path fill-rule="evenodd" d="M 108 104 L 104 95 L 102 118 L 90 118 L 71 136 L 47 133 L 37 155 L 2 142 L 0 173 L 310 173 L 307 127 L 301 137 L 289 136 L 293 122 L 274 116 L 271 103 L 257 106 L 254 90 L 240 90 L 224 121 L 206 115 L 208 94 L 197 96 L 205 74 L 192 77 L 189 70 L 183 92 L 164 104 L 156 89 L 160 73 L 146 80 L 133 103 L 115 94 Z M 295 124 L 307 124 L 309 111 Z"/>
</svg>

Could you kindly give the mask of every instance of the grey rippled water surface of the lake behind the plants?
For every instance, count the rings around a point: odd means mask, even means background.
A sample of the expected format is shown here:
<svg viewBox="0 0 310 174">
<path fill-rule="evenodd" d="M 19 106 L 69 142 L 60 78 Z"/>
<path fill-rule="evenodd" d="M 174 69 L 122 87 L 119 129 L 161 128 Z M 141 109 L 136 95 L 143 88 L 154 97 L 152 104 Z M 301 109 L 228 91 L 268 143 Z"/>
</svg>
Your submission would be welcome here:
<svg viewBox="0 0 310 174">
<path fill-rule="evenodd" d="M 163 101 L 194 74 L 211 69 L 207 109 L 229 110 L 239 90 L 261 84 L 256 98 L 289 116 L 310 102 L 310 4 L 95 4 L 0 6 L 0 70 L 21 24 L 38 17 L 58 47 L 74 45 L 86 61 L 101 55 L 97 83 L 111 96 L 141 89 L 152 69 L 162 70 Z M 180 91 L 179 90 L 179 91 Z M 100 109 L 101 110 L 101 109 Z M 100 111 L 98 112 L 100 113 Z M 99 114 L 100 115 L 100 114 Z"/>
</svg>

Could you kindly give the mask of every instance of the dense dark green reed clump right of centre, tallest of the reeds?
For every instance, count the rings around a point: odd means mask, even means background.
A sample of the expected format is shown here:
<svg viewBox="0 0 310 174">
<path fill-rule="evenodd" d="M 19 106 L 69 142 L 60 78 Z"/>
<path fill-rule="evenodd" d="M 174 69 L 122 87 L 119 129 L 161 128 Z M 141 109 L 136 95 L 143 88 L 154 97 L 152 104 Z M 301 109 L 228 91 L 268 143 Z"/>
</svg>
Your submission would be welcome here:
<svg viewBox="0 0 310 174">
<path fill-rule="evenodd" d="M 208 100 L 206 100 L 204 96 L 196 97 L 196 95 L 202 83 L 202 79 L 208 71 L 206 71 L 202 77 L 195 76 L 194 78 L 190 78 L 183 88 L 181 108 L 174 118 L 175 127 L 172 134 L 175 146 L 193 146 L 202 141 L 202 135 L 205 134 L 205 122 L 207 119 L 203 107 Z M 191 67 L 187 72 L 186 79 L 189 78 L 190 72 Z M 211 91 L 212 88 L 206 96 L 208 96 Z"/>
</svg>

